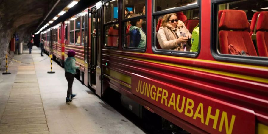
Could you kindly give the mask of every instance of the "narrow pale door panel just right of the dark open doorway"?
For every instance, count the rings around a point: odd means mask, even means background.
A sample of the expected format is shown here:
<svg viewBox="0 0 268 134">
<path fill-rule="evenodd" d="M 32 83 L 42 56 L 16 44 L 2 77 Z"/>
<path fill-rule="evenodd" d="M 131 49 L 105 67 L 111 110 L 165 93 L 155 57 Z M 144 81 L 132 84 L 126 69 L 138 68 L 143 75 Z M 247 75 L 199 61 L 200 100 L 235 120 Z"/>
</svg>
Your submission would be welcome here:
<svg viewBox="0 0 268 134">
<path fill-rule="evenodd" d="M 96 15 L 97 15 L 97 19 L 96 19 L 96 38 L 97 38 L 97 51 L 96 51 L 96 56 L 97 56 L 97 66 L 96 66 L 96 94 L 98 96 L 101 97 L 102 95 L 102 57 L 101 57 L 101 50 L 102 50 L 102 2 L 98 2 L 96 4 Z"/>
</svg>

